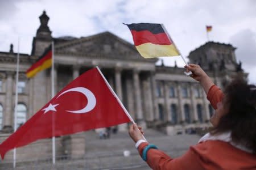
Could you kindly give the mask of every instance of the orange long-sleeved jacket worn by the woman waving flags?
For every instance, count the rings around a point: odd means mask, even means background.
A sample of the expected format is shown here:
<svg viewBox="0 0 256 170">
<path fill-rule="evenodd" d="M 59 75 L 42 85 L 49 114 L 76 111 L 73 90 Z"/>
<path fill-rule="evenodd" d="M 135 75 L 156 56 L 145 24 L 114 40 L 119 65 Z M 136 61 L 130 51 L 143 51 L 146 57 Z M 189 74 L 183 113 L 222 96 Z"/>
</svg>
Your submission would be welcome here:
<svg viewBox="0 0 256 170">
<path fill-rule="evenodd" d="M 222 97 L 222 91 L 215 85 L 210 88 L 207 96 L 214 109 Z M 146 142 L 139 145 L 140 155 L 147 145 Z M 172 159 L 163 151 L 151 148 L 147 151 L 147 164 L 152 169 L 168 170 L 256 169 L 256 155 L 240 150 L 228 142 L 205 141 L 191 146 L 183 156 L 176 159 Z"/>
</svg>

